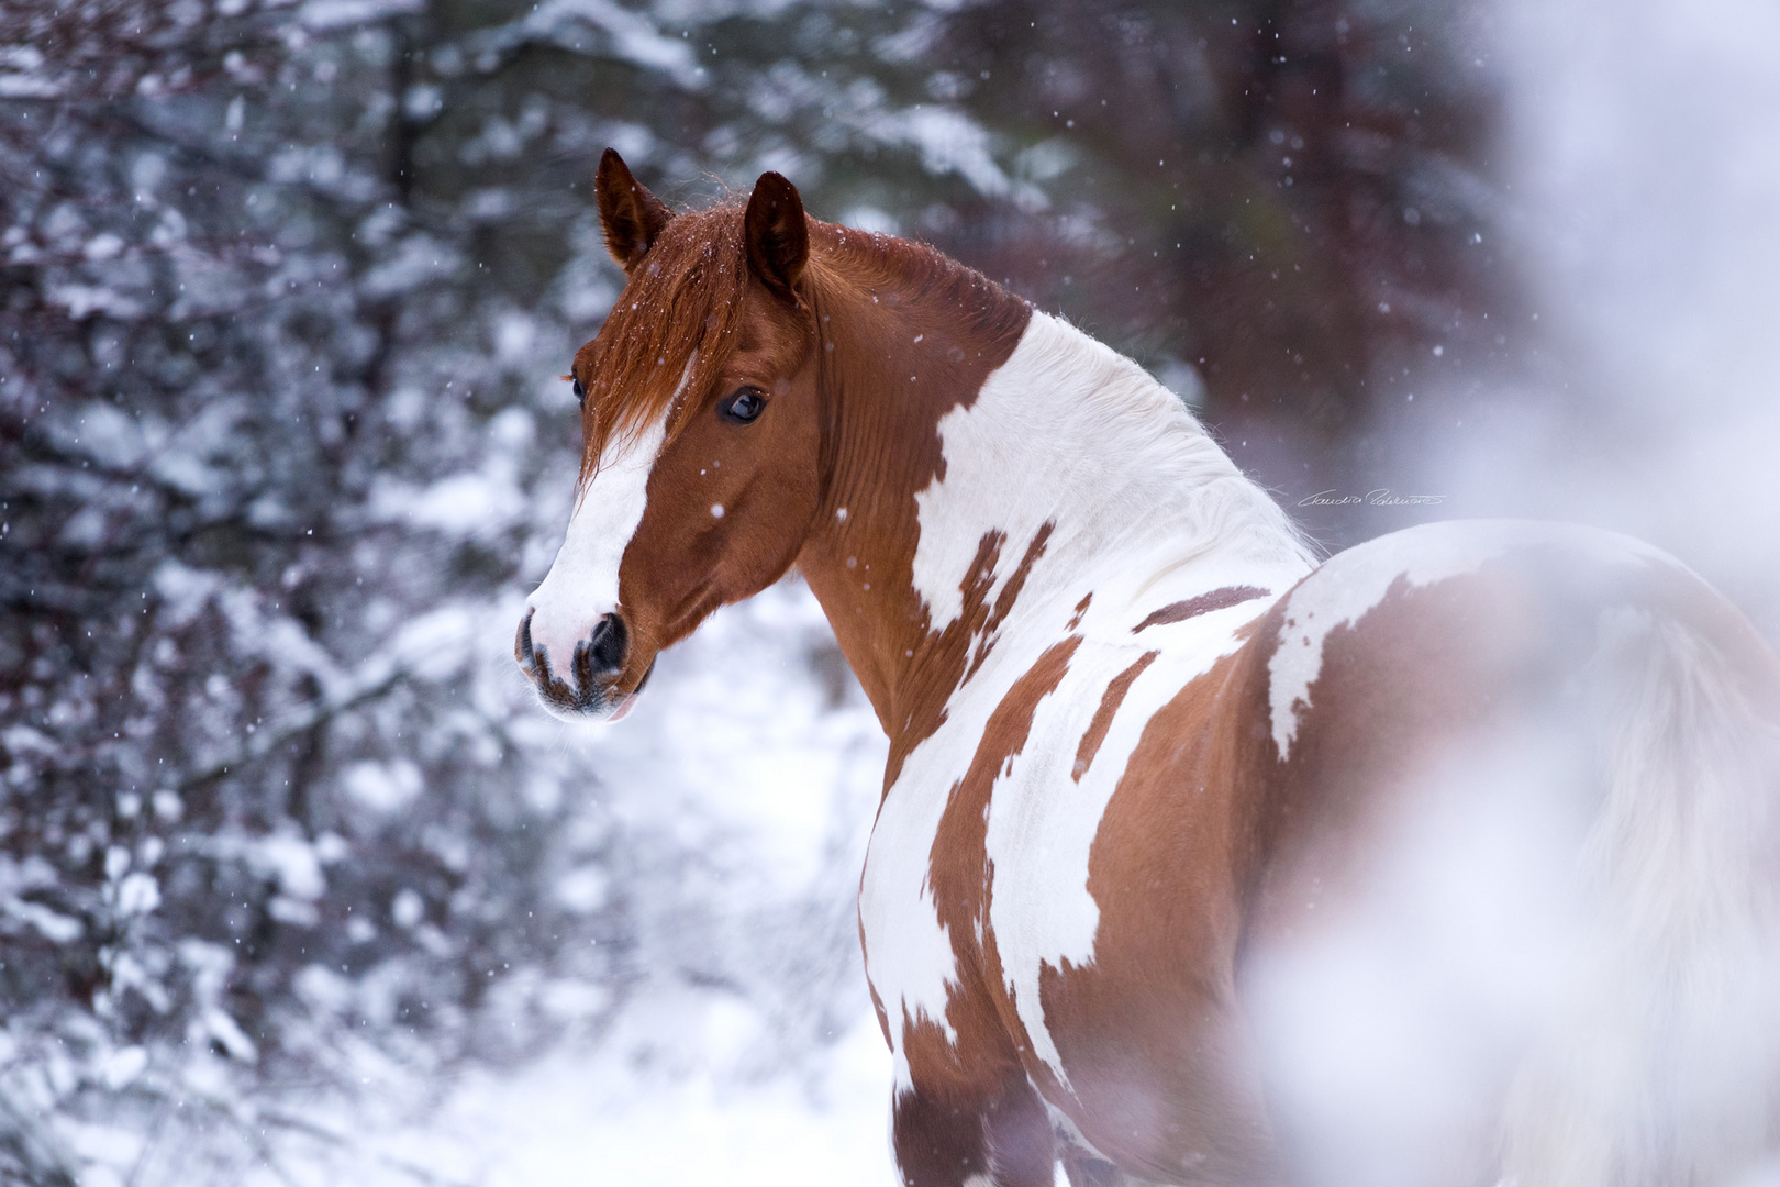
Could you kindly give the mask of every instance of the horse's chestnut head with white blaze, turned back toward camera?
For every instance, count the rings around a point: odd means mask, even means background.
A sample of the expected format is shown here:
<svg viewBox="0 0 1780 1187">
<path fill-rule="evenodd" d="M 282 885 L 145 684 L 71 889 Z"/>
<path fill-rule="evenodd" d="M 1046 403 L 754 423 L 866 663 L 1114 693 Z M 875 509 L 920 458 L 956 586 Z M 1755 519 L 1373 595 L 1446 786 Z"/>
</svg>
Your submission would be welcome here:
<svg viewBox="0 0 1780 1187">
<path fill-rule="evenodd" d="M 600 219 L 628 283 L 575 356 L 586 452 L 516 657 L 568 717 L 623 715 L 662 648 L 778 580 L 821 497 L 808 230 L 776 173 L 746 210 L 669 210 L 607 149 Z"/>
</svg>

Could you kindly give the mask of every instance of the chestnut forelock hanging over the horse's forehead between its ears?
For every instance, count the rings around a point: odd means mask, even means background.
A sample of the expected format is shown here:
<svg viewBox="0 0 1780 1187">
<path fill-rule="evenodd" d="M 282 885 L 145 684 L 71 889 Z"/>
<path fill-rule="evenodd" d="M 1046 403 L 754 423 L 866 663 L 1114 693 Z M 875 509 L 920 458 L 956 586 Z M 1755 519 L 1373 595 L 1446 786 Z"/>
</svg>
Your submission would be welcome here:
<svg viewBox="0 0 1780 1187">
<path fill-rule="evenodd" d="M 682 393 L 705 392 L 728 359 L 748 281 L 742 212 L 726 203 L 675 215 L 589 343 L 584 488 L 609 443 L 660 416 L 671 440 L 691 408 Z"/>
</svg>

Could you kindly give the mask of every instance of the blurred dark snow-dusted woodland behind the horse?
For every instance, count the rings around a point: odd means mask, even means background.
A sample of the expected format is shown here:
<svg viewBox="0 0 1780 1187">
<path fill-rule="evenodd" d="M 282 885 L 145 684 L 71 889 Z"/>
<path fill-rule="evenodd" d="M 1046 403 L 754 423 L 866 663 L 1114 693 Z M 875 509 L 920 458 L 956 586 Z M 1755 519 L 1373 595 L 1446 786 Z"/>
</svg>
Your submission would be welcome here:
<svg viewBox="0 0 1780 1187">
<path fill-rule="evenodd" d="M 351 1151 L 304 1107 L 600 1043 L 668 982 L 749 1002 L 762 1068 L 860 1013 L 876 726 L 808 600 L 703 653 L 803 705 L 774 753 L 817 747 L 828 840 L 783 884 L 682 794 L 696 717 L 566 744 L 504 657 L 573 486 L 555 375 L 621 285 L 600 149 L 689 203 L 780 169 L 940 246 L 1134 354 L 1294 504 L 1547 367 L 1470 20 L 9 2 L 0 1178 Z M 1331 546 L 1406 521 L 1303 516 Z M 77 1123 L 134 1137 L 105 1162 Z"/>
</svg>

